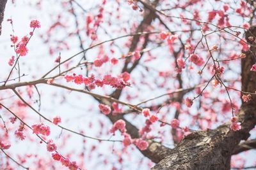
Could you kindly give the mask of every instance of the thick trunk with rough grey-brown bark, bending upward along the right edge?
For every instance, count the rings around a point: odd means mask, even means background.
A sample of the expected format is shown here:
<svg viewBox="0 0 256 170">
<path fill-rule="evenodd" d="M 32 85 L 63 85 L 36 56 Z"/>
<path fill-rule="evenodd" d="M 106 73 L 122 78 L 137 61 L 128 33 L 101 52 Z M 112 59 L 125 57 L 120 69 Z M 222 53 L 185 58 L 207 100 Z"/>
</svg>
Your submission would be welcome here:
<svg viewBox="0 0 256 170">
<path fill-rule="evenodd" d="M 246 32 L 248 36 L 256 36 L 256 28 Z M 248 42 L 250 43 L 250 42 Z M 250 71 L 255 63 L 255 43 L 246 52 L 241 62 L 242 90 L 255 92 L 256 72 Z M 152 169 L 230 169 L 230 158 L 239 142 L 248 139 L 249 132 L 256 124 L 256 97 L 243 103 L 239 110 L 240 131 L 230 131 L 228 124 L 214 130 L 193 132 L 184 138 L 168 155 Z"/>
</svg>

